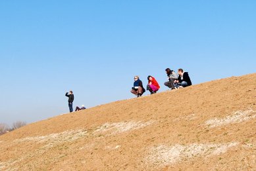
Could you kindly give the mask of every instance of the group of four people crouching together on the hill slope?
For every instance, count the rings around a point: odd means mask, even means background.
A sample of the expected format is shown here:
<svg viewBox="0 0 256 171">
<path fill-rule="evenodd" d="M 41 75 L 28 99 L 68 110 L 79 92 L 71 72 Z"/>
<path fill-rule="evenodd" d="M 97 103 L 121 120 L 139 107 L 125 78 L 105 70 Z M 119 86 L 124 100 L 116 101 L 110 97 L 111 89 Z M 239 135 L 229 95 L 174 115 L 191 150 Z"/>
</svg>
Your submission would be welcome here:
<svg viewBox="0 0 256 171">
<path fill-rule="evenodd" d="M 168 88 L 173 90 L 192 85 L 188 72 L 184 72 L 183 69 L 178 69 L 178 73 L 175 73 L 175 71 L 171 70 L 170 68 L 166 68 L 165 71 L 168 78 L 168 81 L 165 82 L 165 86 L 168 86 Z M 147 80 L 147 90 L 149 90 L 150 94 L 155 94 L 160 88 L 157 80 L 151 75 L 147 77 Z M 132 87 L 131 92 L 137 97 L 140 97 L 145 92 L 142 81 L 138 76 L 134 77 L 134 86 Z"/>
</svg>

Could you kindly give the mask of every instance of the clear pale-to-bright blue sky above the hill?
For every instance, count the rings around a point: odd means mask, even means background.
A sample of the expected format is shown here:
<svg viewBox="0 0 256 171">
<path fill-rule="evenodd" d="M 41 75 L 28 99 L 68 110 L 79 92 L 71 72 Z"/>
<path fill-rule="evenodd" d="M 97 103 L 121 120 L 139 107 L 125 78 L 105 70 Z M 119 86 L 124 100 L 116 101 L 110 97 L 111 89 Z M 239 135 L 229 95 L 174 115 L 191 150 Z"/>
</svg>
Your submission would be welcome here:
<svg viewBox="0 0 256 171">
<path fill-rule="evenodd" d="M 256 1 L 0 1 L 0 123 L 133 98 L 134 75 L 256 71 Z M 238 85 L 239 86 L 239 85 Z M 146 94 L 149 94 L 148 92 Z"/>
</svg>

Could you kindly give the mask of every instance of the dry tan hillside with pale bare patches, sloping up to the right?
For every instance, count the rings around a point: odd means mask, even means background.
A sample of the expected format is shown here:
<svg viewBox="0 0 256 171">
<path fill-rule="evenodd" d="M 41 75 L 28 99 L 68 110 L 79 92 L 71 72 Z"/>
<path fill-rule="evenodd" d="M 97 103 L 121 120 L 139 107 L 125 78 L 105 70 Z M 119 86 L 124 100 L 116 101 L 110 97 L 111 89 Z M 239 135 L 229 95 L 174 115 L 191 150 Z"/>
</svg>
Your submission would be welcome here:
<svg viewBox="0 0 256 171">
<path fill-rule="evenodd" d="M 0 136 L 0 170 L 256 170 L 256 73 L 67 113 Z"/>
</svg>

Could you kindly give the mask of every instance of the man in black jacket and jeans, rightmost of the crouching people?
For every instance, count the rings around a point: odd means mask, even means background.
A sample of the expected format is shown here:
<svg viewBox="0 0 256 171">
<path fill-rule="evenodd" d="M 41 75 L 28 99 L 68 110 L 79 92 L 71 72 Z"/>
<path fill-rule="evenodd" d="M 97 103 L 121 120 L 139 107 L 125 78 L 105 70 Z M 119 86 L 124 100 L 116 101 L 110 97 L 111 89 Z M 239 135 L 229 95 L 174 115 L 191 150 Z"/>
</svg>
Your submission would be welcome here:
<svg viewBox="0 0 256 171">
<path fill-rule="evenodd" d="M 183 69 L 178 69 L 178 75 L 178 79 L 174 81 L 176 87 L 184 88 L 192 85 L 188 72 L 183 72 Z"/>
</svg>

